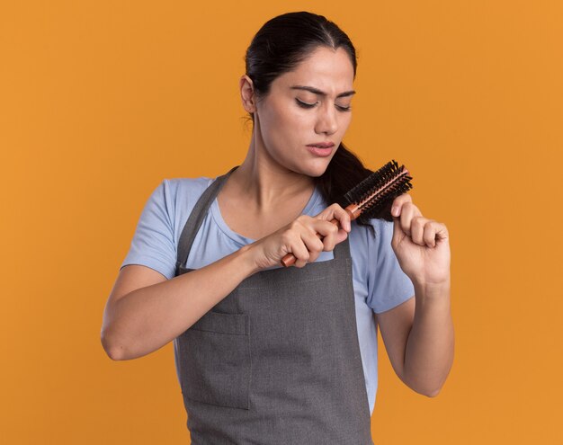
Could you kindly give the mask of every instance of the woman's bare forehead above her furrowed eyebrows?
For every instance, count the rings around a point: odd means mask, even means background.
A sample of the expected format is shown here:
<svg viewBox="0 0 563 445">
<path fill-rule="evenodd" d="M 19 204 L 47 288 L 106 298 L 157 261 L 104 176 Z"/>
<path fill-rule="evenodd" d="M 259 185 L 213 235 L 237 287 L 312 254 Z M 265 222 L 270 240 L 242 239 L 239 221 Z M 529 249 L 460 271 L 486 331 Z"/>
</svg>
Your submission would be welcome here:
<svg viewBox="0 0 563 445">
<path fill-rule="evenodd" d="M 342 49 L 320 47 L 313 50 L 292 71 L 279 76 L 274 84 L 286 89 L 294 85 L 313 86 L 328 94 L 352 89 L 353 66 L 348 53 Z"/>
</svg>

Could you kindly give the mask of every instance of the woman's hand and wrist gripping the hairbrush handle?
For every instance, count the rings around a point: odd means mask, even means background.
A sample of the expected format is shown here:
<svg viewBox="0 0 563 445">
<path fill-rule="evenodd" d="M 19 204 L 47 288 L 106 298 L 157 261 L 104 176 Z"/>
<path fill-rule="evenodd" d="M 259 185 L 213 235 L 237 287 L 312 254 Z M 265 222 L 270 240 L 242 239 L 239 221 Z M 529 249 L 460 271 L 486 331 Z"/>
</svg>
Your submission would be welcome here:
<svg viewBox="0 0 563 445">
<path fill-rule="evenodd" d="M 338 220 L 342 228 L 331 223 L 332 219 Z M 256 271 L 279 265 L 286 254 L 297 258 L 295 267 L 303 267 L 313 263 L 321 252 L 332 251 L 346 239 L 350 228 L 350 216 L 341 206 L 332 204 L 315 217 L 301 215 L 273 234 L 248 245 L 247 254 L 251 255 Z"/>
</svg>

